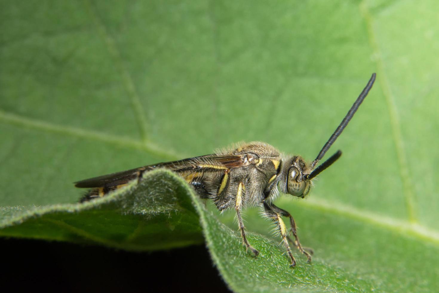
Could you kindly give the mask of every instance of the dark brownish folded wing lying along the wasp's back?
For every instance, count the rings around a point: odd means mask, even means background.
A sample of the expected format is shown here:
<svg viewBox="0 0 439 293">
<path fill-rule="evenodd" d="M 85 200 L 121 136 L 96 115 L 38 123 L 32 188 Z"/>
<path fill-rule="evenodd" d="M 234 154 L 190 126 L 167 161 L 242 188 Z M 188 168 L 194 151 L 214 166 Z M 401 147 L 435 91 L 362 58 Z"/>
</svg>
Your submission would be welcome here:
<svg viewBox="0 0 439 293">
<path fill-rule="evenodd" d="M 206 155 L 194 158 L 182 159 L 178 161 L 157 163 L 154 165 L 143 166 L 122 172 L 102 175 L 75 182 L 75 186 L 79 188 L 96 188 L 96 187 L 112 187 L 127 184 L 129 181 L 137 179 L 140 174 L 155 168 L 169 168 L 176 172 L 190 171 L 218 171 L 225 168 L 234 168 L 244 166 L 247 162 L 244 155 Z"/>
</svg>

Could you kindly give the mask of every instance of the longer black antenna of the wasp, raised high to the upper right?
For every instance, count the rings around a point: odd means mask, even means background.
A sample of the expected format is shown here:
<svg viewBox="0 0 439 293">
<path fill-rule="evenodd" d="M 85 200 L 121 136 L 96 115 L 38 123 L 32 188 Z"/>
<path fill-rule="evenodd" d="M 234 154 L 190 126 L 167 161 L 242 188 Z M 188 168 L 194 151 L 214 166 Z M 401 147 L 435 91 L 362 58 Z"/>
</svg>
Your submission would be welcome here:
<svg viewBox="0 0 439 293">
<path fill-rule="evenodd" d="M 342 123 L 338 125 L 337 129 L 334 131 L 334 133 L 329 137 L 326 144 L 323 146 L 321 151 L 319 152 L 319 155 L 317 158 L 311 163 L 310 168 L 313 169 L 317 163 L 320 161 L 321 158 L 325 155 L 327 150 L 331 147 L 331 145 L 334 143 L 334 141 L 337 139 L 340 134 L 342 134 L 342 131 L 345 129 L 345 127 L 348 125 L 349 121 L 352 119 L 352 116 L 354 116 L 356 110 L 358 110 L 358 107 L 360 107 L 361 103 L 363 102 L 364 98 L 366 98 L 367 94 L 369 93 L 369 90 L 371 90 L 374 82 L 375 82 L 376 74 L 373 73 L 371 76 L 371 79 L 367 83 L 366 87 L 364 87 L 361 94 L 356 99 L 355 103 L 352 105 L 351 109 L 349 109 L 349 112 L 346 114 L 345 118 L 343 118 Z M 329 158 L 326 162 L 321 164 L 317 167 L 316 170 L 311 172 L 311 174 L 306 175 L 307 179 L 312 179 L 313 177 L 316 177 L 317 174 L 325 170 L 327 167 L 331 166 L 332 163 L 334 163 L 340 156 L 342 155 L 341 151 L 336 152 L 331 158 Z M 318 171 L 318 172 L 317 172 Z M 317 172 L 317 173 L 316 173 Z M 313 176 L 311 176 L 313 175 Z"/>
</svg>

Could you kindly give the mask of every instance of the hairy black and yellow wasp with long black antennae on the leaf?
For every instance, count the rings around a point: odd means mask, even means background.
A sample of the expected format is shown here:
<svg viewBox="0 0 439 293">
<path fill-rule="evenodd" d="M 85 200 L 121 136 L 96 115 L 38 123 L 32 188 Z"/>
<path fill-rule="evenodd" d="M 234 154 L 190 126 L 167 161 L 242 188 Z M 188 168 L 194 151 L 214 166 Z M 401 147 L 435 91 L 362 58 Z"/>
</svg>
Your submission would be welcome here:
<svg viewBox="0 0 439 293">
<path fill-rule="evenodd" d="M 265 216 L 274 221 L 290 257 L 291 267 L 295 266 L 296 260 L 288 241 L 294 243 L 310 262 L 311 255 L 300 244 L 294 218 L 286 210 L 275 206 L 272 201 L 279 195 L 279 192 L 305 198 L 313 185 L 313 178 L 340 158 L 342 152 L 338 150 L 324 163 L 317 166 L 317 163 L 342 133 L 364 98 L 366 98 L 374 81 L 375 73 L 372 74 L 366 87 L 323 146 L 316 159 L 310 164 L 307 164 L 300 156 L 284 156 L 271 145 L 262 142 L 251 142 L 226 152 L 157 163 L 75 182 L 76 187 L 91 188 L 81 199 L 81 202 L 102 197 L 126 185 L 129 181 L 137 180 L 140 182 L 142 174 L 149 170 L 168 168 L 184 177 L 202 199 L 212 199 L 218 210 L 223 211 L 233 208 L 236 211 L 243 244 L 255 256 L 259 252 L 248 242 L 241 217 L 241 210 L 246 206 L 262 206 Z M 289 238 L 288 229 L 282 217 L 289 218 L 289 230 L 295 237 L 295 241 Z"/>
</svg>

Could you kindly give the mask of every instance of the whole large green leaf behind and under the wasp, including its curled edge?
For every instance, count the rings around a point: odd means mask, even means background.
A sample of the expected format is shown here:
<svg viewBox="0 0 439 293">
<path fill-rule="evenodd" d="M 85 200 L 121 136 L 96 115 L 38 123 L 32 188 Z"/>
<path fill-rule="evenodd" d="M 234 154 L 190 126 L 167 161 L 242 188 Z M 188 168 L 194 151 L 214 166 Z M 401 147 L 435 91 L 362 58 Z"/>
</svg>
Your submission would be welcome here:
<svg viewBox="0 0 439 293">
<path fill-rule="evenodd" d="M 432 0 L 1 1 L 1 235 L 153 250 L 204 233 L 235 291 L 435 291 L 438 9 Z M 312 160 L 372 72 L 376 84 L 333 147 L 342 158 L 309 199 L 277 201 L 314 249 L 312 264 L 295 252 L 288 268 L 251 209 L 245 225 L 261 256 L 245 253 L 234 214 L 220 217 L 232 231 L 166 172 L 73 204 L 72 181 L 237 141 Z"/>
</svg>

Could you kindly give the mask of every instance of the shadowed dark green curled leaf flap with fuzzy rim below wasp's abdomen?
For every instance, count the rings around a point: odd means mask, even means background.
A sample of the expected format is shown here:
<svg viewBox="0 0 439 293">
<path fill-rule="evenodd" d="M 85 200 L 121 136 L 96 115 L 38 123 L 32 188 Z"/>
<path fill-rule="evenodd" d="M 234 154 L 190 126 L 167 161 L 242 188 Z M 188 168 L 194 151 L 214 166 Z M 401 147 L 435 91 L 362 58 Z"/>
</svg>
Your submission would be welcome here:
<svg viewBox="0 0 439 293">
<path fill-rule="evenodd" d="M 134 251 L 202 243 L 202 228 L 188 193 L 183 179 L 170 171 L 149 172 L 142 184 L 131 182 L 84 204 L 4 208 L 0 235 L 99 243 Z"/>
</svg>

